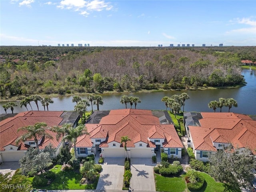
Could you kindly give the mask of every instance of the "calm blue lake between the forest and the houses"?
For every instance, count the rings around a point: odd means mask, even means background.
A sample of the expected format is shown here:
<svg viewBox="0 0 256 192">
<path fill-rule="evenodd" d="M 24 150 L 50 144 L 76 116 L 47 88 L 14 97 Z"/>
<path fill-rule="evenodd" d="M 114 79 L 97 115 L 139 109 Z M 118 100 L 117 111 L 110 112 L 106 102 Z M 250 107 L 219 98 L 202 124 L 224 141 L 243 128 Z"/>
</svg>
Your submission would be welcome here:
<svg viewBox="0 0 256 192">
<path fill-rule="evenodd" d="M 185 111 L 196 111 L 196 112 L 213 112 L 212 109 L 208 108 L 208 103 L 212 100 L 218 100 L 218 98 L 234 98 L 238 102 L 238 107 L 232 107 L 230 112 L 236 112 L 241 114 L 256 115 L 256 70 L 250 72 L 250 70 L 242 70 L 247 84 L 246 86 L 233 89 L 214 89 L 214 90 L 185 90 L 185 91 L 168 91 L 168 92 L 152 92 L 152 93 L 115 93 L 115 94 L 102 94 L 104 104 L 100 106 L 100 110 L 112 110 L 125 108 L 124 104 L 120 103 L 120 98 L 123 95 L 139 97 L 141 103 L 137 104 L 138 109 L 150 109 L 150 110 L 164 110 L 165 104 L 161 102 L 164 96 L 171 97 L 174 94 L 181 94 L 186 92 L 190 99 L 185 101 Z M 49 110 L 74 110 L 75 103 L 72 103 L 73 96 L 59 96 L 58 98 L 52 98 L 53 104 L 49 105 Z M 81 96 L 86 98 L 86 95 Z M 7 102 L 1 102 L 0 110 L 4 113 L 2 105 Z M 14 107 L 14 113 L 22 112 L 26 108 L 20 108 L 20 101 L 17 101 L 18 106 Z M 31 103 L 33 110 L 36 110 L 36 104 Z M 130 108 L 130 104 L 127 104 Z M 134 108 L 134 105 L 133 105 Z M 30 106 L 28 105 L 30 110 Z M 44 110 L 42 105 L 39 103 L 39 109 Z M 91 106 L 88 107 L 88 110 Z M 94 105 L 94 110 L 96 110 Z M 182 108 L 181 108 L 182 109 Z M 220 109 L 216 109 L 219 112 Z M 10 109 L 7 112 L 11 112 Z M 227 107 L 222 108 L 222 112 L 228 112 Z"/>
</svg>

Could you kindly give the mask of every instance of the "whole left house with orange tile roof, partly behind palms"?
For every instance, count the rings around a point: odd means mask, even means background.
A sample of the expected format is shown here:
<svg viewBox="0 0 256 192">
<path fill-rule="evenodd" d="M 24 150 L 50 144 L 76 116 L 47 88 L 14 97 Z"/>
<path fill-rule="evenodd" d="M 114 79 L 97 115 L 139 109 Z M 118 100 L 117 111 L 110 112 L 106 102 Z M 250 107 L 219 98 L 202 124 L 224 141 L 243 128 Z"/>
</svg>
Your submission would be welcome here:
<svg viewBox="0 0 256 192">
<path fill-rule="evenodd" d="M 38 122 L 44 122 L 47 126 L 62 126 L 64 123 L 71 123 L 76 126 L 79 120 L 77 112 L 63 111 L 26 111 L 20 112 L 16 116 L 6 118 L 0 122 L 0 162 L 18 161 L 24 156 L 28 148 L 36 147 L 34 140 L 27 140 L 16 144 L 16 139 L 19 138 L 24 131 L 17 132 L 18 128 L 34 125 Z M 46 146 L 52 144 L 56 148 L 56 152 L 52 156 L 59 153 L 61 138 L 56 140 L 56 133 L 47 130 L 52 135 L 52 139 L 38 138 L 39 149 L 44 150 Z"/>
</svg>

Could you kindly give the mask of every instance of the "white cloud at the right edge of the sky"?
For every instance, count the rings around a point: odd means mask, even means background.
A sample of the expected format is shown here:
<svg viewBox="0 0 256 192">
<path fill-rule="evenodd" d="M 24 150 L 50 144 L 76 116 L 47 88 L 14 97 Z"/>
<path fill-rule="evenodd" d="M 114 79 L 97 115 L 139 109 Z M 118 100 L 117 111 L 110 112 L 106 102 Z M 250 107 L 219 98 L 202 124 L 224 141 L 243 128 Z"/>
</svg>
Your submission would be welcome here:
<svg viewBox="0 0 256 192">
<path fill-rule="evenodd" d="M 230 23 L 244 24 L 248 27 L 230 30 L 227 31 L 226 34 L 256 34 L 256 20 L 252 20 L 251 18 L 236 18 L 234 20 L 230 20 Z"/>
</svg>

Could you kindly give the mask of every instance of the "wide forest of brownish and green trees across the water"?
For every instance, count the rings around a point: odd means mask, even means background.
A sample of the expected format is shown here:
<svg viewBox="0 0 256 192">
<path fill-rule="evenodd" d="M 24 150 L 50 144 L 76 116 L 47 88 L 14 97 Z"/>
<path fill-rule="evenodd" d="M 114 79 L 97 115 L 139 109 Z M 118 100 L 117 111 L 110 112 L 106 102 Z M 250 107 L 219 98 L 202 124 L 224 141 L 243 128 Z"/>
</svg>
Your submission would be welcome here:
<svg viewBox="0 0 256 192">
<path fill-rule="evenodd" d="M 243 83 L 256 47 L 0 47 L 1 98 Z"/>
</svg>

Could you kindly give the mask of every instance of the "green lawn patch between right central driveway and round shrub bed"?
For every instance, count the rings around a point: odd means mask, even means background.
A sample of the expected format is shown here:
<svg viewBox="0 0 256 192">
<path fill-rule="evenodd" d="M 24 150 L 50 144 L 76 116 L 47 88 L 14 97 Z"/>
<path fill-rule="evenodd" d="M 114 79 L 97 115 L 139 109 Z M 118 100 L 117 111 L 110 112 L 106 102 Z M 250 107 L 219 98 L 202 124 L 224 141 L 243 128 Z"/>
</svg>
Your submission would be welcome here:
<svg viewBox="0 0 256 192">
<path fill-rule="evenodd" d="M 182 177 L 164 177 L 154 174 L 156 191 L 183 192 L 186 189 L 185 180 Z"/>
</svg>

